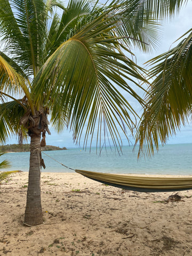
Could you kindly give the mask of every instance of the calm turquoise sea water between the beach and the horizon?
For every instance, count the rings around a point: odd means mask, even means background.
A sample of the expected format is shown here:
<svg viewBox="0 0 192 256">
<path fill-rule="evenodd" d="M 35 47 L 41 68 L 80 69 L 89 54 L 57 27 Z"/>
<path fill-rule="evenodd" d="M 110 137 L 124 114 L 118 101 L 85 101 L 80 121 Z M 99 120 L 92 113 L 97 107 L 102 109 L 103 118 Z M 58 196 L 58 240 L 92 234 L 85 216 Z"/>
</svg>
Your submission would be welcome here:
<svg viewBox="0 0 192 256">
<path fill-rule="evenodd" d="M 95 154 L 94 148 L 91 153 L 89 150 L 79 148 L 45 151 L 45 153 L 73 169 L 110 173 L 192 175 L 192 144 L 166 145 L 161 147 L 154 157 L 141 158 L 139 161 L 137 150 L 133 153 L 132 149 L 131 146 L 124 146 L 121 156 L 110 148 L 107 148 L 107 153 L 103 149 L 100 156 Z M 42 169 L 42 172 L 73 172 L 43 153 L 42 157 L 46 165 L 46 169 Z M 5 158 L 12 163 L 9 170 L 28 171 L 28 152 L 5 154 L 0 161 Z"/>
</svg>

